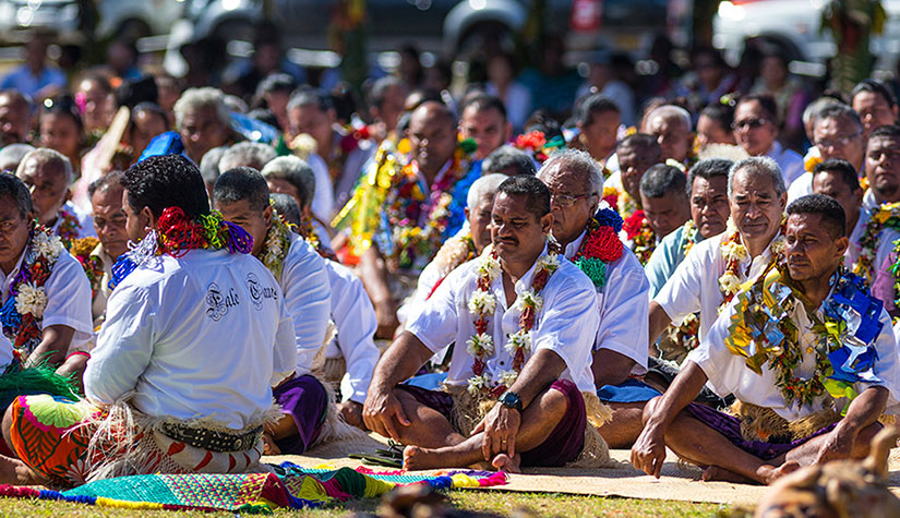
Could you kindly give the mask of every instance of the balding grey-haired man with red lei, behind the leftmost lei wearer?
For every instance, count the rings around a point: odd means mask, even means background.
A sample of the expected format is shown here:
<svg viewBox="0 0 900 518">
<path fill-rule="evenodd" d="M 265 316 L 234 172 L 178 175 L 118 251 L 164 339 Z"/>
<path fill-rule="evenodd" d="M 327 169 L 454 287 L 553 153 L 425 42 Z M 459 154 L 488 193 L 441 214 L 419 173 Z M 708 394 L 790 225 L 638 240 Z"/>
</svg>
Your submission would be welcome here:
<svg viewBox="0 0 900 518">
<path fill-rule="evenodd" d="M 32 192 L 38 222 L 59 236 L 67 249 L 75 239 L 94 234 L 91 217 L 80 216 L 68 201 L 73 173 L 62 154 L 46 147 L 29 152 L 19 162 L 15 176 Z"/>
</svg>

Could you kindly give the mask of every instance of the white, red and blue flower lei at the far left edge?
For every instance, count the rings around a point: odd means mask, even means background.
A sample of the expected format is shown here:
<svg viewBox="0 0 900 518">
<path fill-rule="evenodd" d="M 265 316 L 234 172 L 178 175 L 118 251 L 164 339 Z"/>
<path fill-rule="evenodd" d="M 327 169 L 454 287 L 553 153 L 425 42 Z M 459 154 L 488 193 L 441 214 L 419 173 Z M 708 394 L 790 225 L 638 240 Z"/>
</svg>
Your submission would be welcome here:
<svg viewBox="0 0 900 518">
<path fill-rule="evenodd" d="M 10 285 L 5 303 L 0 308 L 3 334 L 25 357 L 40 344 L 40 322 L 47 309 L 44 285 L 63 253 L 65 246 L 62 239 L 50 229 L 35 224 L 22 266 Z"/>
</svg>

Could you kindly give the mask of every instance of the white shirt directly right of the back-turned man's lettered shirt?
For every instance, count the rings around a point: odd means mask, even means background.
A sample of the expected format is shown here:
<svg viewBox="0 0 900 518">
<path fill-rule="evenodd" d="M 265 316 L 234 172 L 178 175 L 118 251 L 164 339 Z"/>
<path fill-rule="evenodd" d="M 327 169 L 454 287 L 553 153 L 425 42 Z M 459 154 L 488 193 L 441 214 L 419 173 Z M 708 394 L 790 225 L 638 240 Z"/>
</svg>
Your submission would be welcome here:
<svg viewBox="0 0 900 518">
<path fill-rule="evenodd" d="M 291 232 L 281 278 L 288 314 L 293 318 L 297 375 L 312 371 L 315 353 L 325 341 L 332 310 L 332 289 L 325 260 L 303 238 Z"/>
</svg>

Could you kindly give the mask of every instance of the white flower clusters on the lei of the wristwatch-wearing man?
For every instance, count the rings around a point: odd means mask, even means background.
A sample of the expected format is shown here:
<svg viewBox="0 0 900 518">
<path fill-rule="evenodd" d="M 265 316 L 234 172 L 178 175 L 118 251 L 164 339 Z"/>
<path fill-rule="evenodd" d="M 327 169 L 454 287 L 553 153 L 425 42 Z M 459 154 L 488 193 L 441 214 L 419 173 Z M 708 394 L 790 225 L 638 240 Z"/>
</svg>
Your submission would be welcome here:
<svg viewBox="0 0 900 518">
<path fill-rule="evenodd" d="M 484 358 L 492 357 L 495 352 L 493 338 L 490 333 L 487 332 L 488 317 L 494 314 L 497 302 L 496 297 L 490 292 L 490 286 L 495 279 L 500 278 L 503 270 L 501 268 L 500 261 L 493 254 L 493 248 L 491 245 L 484 249 L 484 252 L 477 261 L 478 264 L 476 265 L 476 273 L 478 274 L 479 282 L 478 287 L 469 298 L 468 309 L 469 313 L 471 313 L 475 317 L 475 321 L 483 324 L 484 329 L 482 333 L 476 330 L 476 334 L 466 341 L 466 350 L 476 359 L 476 363 L 480 363 L 480 368 L 484 369 L 487 366 L 484 364 Z M 538 258 L 535 277 L 540 275 L 542 272 L 545 272 L 549 280 L 550 276 L 552 276 L 559 267 L 559 255 L 555 252 L 549 252 Z M 531 308 L 533 313 L 540 311 L 542 306 L 543 299 L 541 298 L 539 291 L 533 289 L 528 289 L 520 293 L 516 299 L 516 304 L 514 305 L 515 309 L 523 312 L 525 312 L 528 308 Z M 504 345 L 504 350 L 506 350 L 506 352 L 513 358 L 515 358 L 519 352 L 521 352 L 523 357 L 530 354 L 530 327 L 523 327 L 517 333 L 507 335 L 507 341 Z M 475 396 L 483 390 L 494 390 L 500 386 L 509 387 L 517 378 L 518 371 L 515 368 L 511 371 L 504 371 L 497 380 L 499 385 L 492 387 L 492 376 L 487 370 L 483 370 L 481 374 L 476 374 L 468 380 L 467 389 Z"/>
</svg>

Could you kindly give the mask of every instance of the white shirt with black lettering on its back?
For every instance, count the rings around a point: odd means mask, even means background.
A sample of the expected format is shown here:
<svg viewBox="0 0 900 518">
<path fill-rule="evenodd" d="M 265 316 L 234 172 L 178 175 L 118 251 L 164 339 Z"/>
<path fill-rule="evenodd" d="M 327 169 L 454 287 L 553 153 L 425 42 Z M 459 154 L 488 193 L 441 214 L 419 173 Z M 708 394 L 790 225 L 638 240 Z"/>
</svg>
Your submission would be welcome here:
<svg viewBox="0 0 900 518">
<path fill-rule="evenodd" d="M 109 298 L 84 389 L 96 403 L 133 391 L 151 417 L 213 418 L 233 430 L 272 408 L 297 352 L 281 289 L 254 257 L 192 250 L 139 266 Z"/>
</svg>

